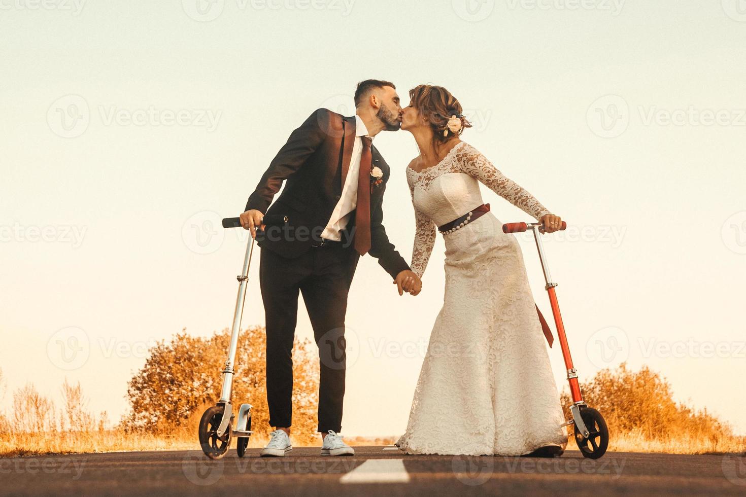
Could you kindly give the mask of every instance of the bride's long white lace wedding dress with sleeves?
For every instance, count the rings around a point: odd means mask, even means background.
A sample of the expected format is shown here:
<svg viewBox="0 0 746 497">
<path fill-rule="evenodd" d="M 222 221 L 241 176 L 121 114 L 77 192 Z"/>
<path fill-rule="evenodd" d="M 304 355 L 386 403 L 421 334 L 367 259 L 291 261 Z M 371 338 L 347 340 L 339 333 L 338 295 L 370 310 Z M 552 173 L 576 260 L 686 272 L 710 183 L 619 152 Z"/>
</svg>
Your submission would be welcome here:
<svg viewBox="0 0 746 497">
<path fill-rule="evenodd" d="M 412 270 L 436 227 L 483 203 L 479 181 L 537 220 L 549 211 L 466 142 L 433 167 L 407 168 L 416 215 Z M 409 454 L 523 455 L 564 447 L 560 396 L 515 235 L 487 212 L 444 235 L 445 297 L 414 394 Z"/>
</svg>

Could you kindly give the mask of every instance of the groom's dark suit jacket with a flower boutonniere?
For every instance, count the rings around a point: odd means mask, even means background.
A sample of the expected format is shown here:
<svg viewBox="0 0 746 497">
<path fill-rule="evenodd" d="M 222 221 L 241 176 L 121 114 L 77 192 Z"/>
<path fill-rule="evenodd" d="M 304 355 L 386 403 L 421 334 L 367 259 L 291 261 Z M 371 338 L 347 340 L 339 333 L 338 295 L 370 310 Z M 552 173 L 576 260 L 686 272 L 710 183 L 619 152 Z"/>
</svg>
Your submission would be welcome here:
<svg viewBox="0 0 746 497">
<path fill-rule="evenodd" d="M 311 114 L 294 130 L 269 164 L 245 210 L 257 209 L 265 215 L 286 215 L 288 225 L 280 231 L 267 227 L 257 235 L 257 244 L 281 256 L 295 258 L 320 241 L 321 233 L 342 196 L 355 140 L 355 117 L 344 117 L 328 109 Z M 372 167 L 383 171 L 383 183 L 371 194 L 371 249 L 369 253 L 392 278 L 410 269 L 383 228 L 383 192 L 391 171 L 375 147 L 371 148 Z M 272 203 L 283 180 L 282 194 Z M 270 204 L 272 206 L 270 207 Z M 342 242 L 354 250 L 355 212 L 342 230 Z"/>
</svg>

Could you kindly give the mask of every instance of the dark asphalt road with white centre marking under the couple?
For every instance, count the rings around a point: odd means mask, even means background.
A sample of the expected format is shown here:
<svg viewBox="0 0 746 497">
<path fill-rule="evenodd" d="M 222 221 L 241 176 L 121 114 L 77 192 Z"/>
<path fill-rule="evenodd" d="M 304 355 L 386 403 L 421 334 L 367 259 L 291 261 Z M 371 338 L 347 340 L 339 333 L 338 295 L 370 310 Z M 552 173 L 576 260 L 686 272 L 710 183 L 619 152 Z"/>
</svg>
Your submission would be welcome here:
<svg viewBox="0 0 746 497">
<path fill-rule="evenodd" d="M 0 459 L 2 496 L 453 496 L 746 495 L 746 457 L 609 452 L 586 460 L 404 455 L 356 447 L 328 458 L 318 447 L 286 458 L 249 449 L 222 460 L 199 451 L 119 452 Z"/>
</svg>

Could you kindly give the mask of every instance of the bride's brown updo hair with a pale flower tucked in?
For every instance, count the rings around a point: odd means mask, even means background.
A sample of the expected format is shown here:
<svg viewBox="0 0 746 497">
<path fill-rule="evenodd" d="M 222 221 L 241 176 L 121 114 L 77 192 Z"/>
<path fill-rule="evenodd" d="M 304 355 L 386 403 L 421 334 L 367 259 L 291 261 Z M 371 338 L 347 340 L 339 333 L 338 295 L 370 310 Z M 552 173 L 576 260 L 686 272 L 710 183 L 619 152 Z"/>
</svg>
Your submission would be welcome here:
<svg viewBox="0 0 746 497">
<path fill-rule="evenodd" d="M 442 86 L 415 86 L 410 89 L 410 102 L 433 128 L 433 145 L 448 142 L 471 127 L 458 99 Z"/>
</svg>

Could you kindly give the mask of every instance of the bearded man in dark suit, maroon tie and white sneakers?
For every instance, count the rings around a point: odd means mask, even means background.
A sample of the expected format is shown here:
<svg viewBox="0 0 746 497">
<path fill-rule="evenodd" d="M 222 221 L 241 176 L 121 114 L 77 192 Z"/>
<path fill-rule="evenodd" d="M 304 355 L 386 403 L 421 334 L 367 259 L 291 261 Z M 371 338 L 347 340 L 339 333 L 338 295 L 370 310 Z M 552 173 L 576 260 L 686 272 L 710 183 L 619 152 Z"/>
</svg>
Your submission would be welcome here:
<svg viewBox="0 0 746 497">
<path fill-rule="evenodd" d="M 269 424 L 275 428 L 262 456 L 283 456 L 292 450 L 292 345 L 298 292 L 303 294 L 319 346 L 322 455 L 353 455 L 339 431 L 345 394 L 345 311 L 357 262 L 370 253 L 394 279 L 400 295 L 421 290 L 419 277 L 383 228 L 381 204 L 390 171 L 372 145 L 380 131 L 401 127 L 399 96 L 389 81 L 365 80 L 357 84 L 354 100 L 354 116 L 319 109 L 290 134 L 240 216 L 242 227 L 251 230 L 261 247 L 267 402 Z M 272 203 L 283 180 L 285 189 Z M 257 234 L 257 229 L 264 229 L 264 215 L 283 215 L 288 221 L 284 227 Z"/>
</svg>

